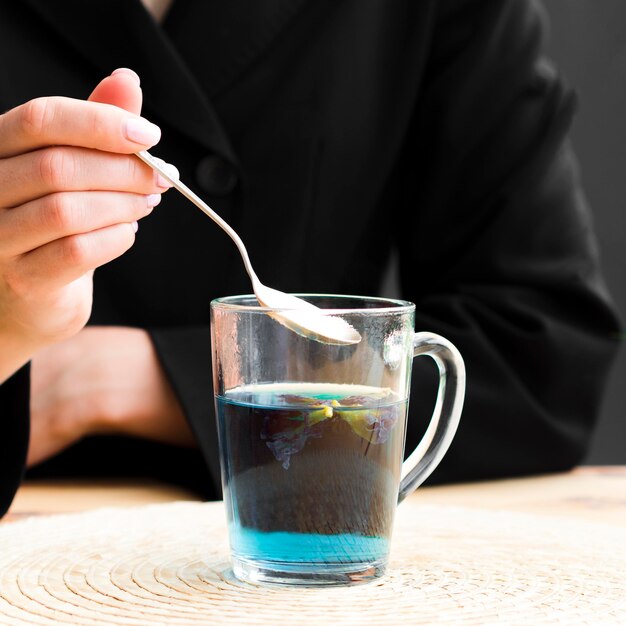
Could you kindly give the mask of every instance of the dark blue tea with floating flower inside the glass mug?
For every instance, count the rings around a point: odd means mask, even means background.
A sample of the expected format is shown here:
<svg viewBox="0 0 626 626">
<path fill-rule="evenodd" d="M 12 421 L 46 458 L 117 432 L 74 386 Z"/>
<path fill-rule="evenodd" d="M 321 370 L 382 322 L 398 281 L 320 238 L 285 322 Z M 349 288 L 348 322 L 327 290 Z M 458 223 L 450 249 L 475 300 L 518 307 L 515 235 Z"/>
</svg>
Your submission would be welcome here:
<svg viewBox="0 0 626 626">
<path fill-rule="evenodd" d="M 267 383 L 217 399 L 231 550 L 283 571 L 384 562 L 406 401 L 360 385 Z"/>
</svg>

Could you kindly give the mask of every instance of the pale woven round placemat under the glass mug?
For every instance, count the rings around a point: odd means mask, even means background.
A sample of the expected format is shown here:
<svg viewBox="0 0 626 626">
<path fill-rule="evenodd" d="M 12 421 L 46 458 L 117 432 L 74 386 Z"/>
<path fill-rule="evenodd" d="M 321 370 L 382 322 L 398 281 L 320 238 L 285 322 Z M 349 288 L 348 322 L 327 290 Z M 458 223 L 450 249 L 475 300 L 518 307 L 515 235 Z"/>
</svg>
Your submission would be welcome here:
<svg viewBox="0 0 626 626">
<path fill-rule="evenodd" d="M 257 587 L 228 564 L 221 503 L 0 527 L 0 624 L 626 624 L 626 528 L 407 501 L 382 579 Z"/>
</svg>

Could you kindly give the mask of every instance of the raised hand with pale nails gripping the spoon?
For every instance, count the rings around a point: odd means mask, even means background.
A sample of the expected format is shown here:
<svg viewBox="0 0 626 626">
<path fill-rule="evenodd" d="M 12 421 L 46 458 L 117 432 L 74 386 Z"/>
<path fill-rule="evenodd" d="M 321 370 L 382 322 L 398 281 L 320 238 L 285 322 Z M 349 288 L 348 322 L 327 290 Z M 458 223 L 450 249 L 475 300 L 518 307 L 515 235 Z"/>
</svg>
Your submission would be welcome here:
<svg viewBox="0 0 626 626">
<path fill-rule="evenodd" d="M 136 74 L 117 70 L 89 101 L 38 98 L 0 116 L 0 383 L 83 328 L 93 270 L 132 246 L 169 187 L 133 156 L 160 138 L 141 99 Z"/>
</svg>

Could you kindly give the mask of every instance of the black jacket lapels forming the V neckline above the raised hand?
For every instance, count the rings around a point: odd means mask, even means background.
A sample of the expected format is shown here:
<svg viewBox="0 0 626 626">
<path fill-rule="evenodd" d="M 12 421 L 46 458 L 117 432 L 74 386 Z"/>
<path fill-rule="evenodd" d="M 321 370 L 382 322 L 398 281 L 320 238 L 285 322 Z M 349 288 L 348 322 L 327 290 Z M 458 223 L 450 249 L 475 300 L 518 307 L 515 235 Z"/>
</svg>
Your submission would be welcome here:
<svg viewBox="0 0 626 626">
<path fill-rule="evenodd" d="M 244 76 L 310 0 L 175 0 L 165 30 L 141 0 L 23 1 L 103 74 L 138 72 L 147 115 L 236 165 L 210 98 Z"/>
</svg>

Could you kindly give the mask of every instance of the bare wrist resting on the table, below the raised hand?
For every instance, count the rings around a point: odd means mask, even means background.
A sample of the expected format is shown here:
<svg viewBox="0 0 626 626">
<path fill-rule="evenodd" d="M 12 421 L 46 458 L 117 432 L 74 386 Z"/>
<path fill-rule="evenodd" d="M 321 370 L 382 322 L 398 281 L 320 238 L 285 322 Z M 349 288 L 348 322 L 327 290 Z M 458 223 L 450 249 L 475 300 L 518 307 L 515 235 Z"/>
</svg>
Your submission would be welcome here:
<svg viewBox="0 0 626 626">
<path fill-rule="evenodd" d="M 95 434 L 195 445 L 141 329 L 89 326 L 32 360 L 28 466 Z"/>
</svg>

